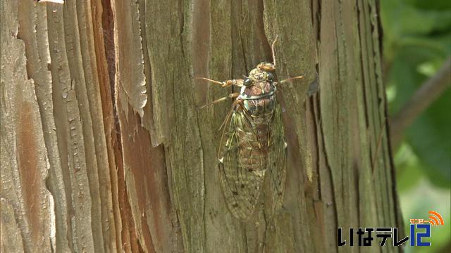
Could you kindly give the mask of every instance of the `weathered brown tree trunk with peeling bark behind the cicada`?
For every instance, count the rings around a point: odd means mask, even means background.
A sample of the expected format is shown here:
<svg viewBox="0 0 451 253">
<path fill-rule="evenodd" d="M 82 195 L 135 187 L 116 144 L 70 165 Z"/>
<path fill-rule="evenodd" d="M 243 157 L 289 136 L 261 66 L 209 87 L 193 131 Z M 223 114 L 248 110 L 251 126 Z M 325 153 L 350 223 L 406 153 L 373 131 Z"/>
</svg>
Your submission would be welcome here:
<svg viewBox="0 0 451 253">
<path fill-rule="evenodd" d="M 337 252 L 402 227 L 378 1 L 1 1 L 2 252 Z M 276 42 L 283 209 L 226 208 L 217 131 Z M 366 248 L 379 252 L 378 243 Z M 399 249 L 383 247 L 385 252 Z"/>
</svg>

